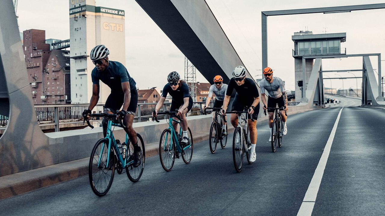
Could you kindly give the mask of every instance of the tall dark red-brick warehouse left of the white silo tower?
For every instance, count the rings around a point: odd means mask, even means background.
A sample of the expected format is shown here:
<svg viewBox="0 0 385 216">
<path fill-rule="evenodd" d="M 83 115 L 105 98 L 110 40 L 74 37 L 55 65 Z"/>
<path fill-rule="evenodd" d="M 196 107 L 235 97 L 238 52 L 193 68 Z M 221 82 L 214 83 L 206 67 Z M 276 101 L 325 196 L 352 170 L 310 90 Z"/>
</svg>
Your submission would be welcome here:
<svg viewBox="0 0 385 216">
<path fill-rule="evenodd" d="M 23 31 L 23 51 L 34 104 L 70 103 L 69 52 L 51 51 L 37 29 Z"/>
</svg>

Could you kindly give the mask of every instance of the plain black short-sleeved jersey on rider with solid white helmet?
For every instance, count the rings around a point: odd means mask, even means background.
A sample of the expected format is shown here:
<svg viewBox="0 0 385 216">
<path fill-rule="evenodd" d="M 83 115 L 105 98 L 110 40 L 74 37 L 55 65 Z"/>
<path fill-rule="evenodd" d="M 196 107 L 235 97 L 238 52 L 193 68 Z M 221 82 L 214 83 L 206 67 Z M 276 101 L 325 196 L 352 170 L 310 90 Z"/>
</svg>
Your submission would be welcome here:
<svg viewBox="0 0 385 216">
<path fill-rule="evenodd" d="M 249 101 L 259 97 L 257 85 L 254 80 L 250 78 L 245 78 L 244 83 L 240 86 L 235 82 L 234 77 L 231 78 L 229 86 L 227 87 L 226 95 L 231 96 L 234 89 L 237 92 L 238 98 L 241 100 Z"/>
</svg>

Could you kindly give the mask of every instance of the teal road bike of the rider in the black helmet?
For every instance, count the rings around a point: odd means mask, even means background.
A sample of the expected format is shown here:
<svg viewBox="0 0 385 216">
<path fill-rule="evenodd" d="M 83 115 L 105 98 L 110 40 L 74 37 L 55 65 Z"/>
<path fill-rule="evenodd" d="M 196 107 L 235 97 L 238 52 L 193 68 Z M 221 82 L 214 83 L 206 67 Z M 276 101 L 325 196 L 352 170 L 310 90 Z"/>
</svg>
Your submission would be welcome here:
<svg viewBox="0 0 385 216">
<path fill-rule="evenodd" d="M 155 111 L 153 112 L 155 116 Z M 188 128 L 187 132 L 187 140 L 186 144 L 181 143 L 181 135 L 182 135 L 182 127 L 179 126 L 179 134 L 177 136 L 172 123 L 180 124 L 181 118 L 176 115 L 177 111 L 166 111 L 166 112 L 158 112 L 158 115 L 167 115 L 169 127 L 162 132 L 161 140 L 159 141 L 159 158 L 161 160 L 161 164 L 164 170 L 170 171 L 174 166 L 175 158 L 179 158 L 179 154 L 181 154 L 184 163 L 188 164 L 192 158 L 193 151 L 193 142 L 192 142 L 192 134 L 190 128 Z M 176 116 L 179 120 L 175 120 L 172 116 Z M 156 117 L 154 117 L 156 122 L 159 122 Z M 154 121 L 153 120 L 153 121 Z"/>
</svg>

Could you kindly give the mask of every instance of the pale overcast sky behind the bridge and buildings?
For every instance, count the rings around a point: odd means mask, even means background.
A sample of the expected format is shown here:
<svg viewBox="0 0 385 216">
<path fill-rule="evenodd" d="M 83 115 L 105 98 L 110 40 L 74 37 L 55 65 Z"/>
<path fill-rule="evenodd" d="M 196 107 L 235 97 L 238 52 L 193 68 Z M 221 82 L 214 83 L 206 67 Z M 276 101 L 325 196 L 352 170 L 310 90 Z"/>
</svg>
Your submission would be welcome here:
<svg viewBox="0 0 385 216">
<path fill-rule="evenodd" d="M 134 0 L 97 0 L 97 6 L 117 8 L 126 12 L 126 67 L 140 89 L 162 87 L 171 71 L 184 76 L 184 55 L 169 40 Z M 261 74 L 261 11 L 298 8 L 360 5 L 362 0 L 206 0 L 224 32 L 238 52 L 251 75 Z M 384 3 L 365 0 L 366 4 Z M 46 38 L 68 39 L 69 2 L 67 0 L 18 0 L 20 31 L 35 28 L 45 30 Z M 347 54 L 382 53 L 385 59 L 385 9 L 353 11 L 350 13 L 308 14 L 268 17 L 268 66 L 275 76 L 286 81 L 286 88 L 294 90 L 294 58 L 291 40 L 293 32 L 308 29 L 314 34 L 346 32 Z M 111 52 L 113 52 L 111 50 Z M 377 56 L 371 57 L 377 69 Z M 362 57 L 323 61 L 323 70 L 362 68 Z M 385 61 L 382 61 L 385 64 Z M 385 67 L 382 66 L 383 73 Z M 143 76 L 146 73 L 147 76 Z M 352 72 L 362 76 L 360 72 Z M 353 76 L 350 73 L 338 73 Z M 327 76 L 338 77 L 335 73 Z M 260 78 L 256 76 L 255 78 Z M 197 81 L 207 82 L 197 72 Z M 360 86 L 362 80 L 358 80 Z M 326 80 L 325 86 L 342 88 L 341 80 Z M 356 81 L 344 80 L 344 87 L 355 88 Z"/>
</svg>

